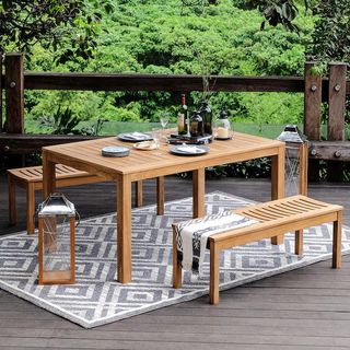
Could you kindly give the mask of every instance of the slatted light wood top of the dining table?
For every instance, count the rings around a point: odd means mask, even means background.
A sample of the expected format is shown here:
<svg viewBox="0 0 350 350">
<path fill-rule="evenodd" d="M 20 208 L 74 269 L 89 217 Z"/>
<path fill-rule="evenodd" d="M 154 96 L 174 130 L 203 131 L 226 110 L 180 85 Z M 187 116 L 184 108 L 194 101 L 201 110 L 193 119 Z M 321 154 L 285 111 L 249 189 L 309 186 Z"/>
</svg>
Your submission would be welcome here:
<svg viewBox="0 0 350 350">
<path fill-rule="evenodd" d="M 107 145 L 130 148 L 125 158 L 102 156 L 101 150 Z M 249 159 L 270 156 L 278 153 L 283 142 L 261 137 L 235 132 L 233 140 L 214 140 L 210 151 L 203 155 L 179 156 L 170 153 L 168 144 L 160 149 L 144 151 L 132 148 L 132 143 L 122 142 L 116 137 L 65 143 L 43 148 L 43 154 L 49 161 L 63 163 L 106 178 L 130 175 L 132 180 L 152 178 L 186 171 L 198 170 L 219 164 L 241 162 Z"/>
</svg>

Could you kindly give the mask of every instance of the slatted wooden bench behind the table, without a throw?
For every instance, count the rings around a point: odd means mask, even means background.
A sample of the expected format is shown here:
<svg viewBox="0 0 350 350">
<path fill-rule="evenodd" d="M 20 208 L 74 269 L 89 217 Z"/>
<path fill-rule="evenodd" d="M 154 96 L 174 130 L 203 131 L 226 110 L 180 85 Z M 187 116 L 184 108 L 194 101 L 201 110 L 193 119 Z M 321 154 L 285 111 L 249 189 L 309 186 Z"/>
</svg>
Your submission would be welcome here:
<svg viewBox="0 0 350 350">
<path fill-rule="evenodd" d="M 43 167 L 32 166 L 22 168 L 8 170 L 9 182 L 9 223 L 14 225 L 16 222 L 15 210 L 15 186 L 20 186 L 26 190 L 27 200 L 27 233 L 35 231 L 34 213 L 35 213 L 35 191 L 43 189 Z M 57 164 L 56 166 L 56 185 L 57 187 L 84 185 L 92 183 L 105 182 L 104 178 L 91 175 L 85 172 L 77 171 L 73 167 Z M 164 211 L 164 177 L 158 178 L 158 213 L 163 214 Z M 142 182 L 136 183 L 136 206 L 142 206 Z"/>
</svg>

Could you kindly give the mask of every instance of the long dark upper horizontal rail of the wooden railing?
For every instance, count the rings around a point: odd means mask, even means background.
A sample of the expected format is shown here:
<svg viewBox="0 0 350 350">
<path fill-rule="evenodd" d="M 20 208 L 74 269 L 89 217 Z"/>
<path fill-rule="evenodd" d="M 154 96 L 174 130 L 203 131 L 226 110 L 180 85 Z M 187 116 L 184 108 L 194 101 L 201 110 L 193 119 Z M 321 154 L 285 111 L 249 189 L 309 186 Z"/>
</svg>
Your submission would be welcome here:
<svg viewBox="0 0 350 350">
<path fill-rule="evenodd" d="M 75 91 L 202 91 L 200 75 L 24 72 L 24 89 Z M 215 92 L 304 92 L 303 77 L 207 77 Z M 4 73 L 1 77 L 4 85 Z M 323 90 L 328 79 L 323 78 Z M 350 94 L 350 81 L 347 81 Z"/>
</svg>

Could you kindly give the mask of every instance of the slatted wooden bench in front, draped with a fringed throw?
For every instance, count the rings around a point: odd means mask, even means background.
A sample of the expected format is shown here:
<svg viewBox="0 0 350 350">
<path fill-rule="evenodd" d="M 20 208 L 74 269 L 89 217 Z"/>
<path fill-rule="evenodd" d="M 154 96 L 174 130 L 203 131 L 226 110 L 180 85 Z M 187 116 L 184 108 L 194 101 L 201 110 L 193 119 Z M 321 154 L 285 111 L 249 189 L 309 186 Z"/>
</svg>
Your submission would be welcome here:
<svg viewBox="0 0 350 350">
<path fill-rule="evenodd" d="M 237 245 L 270 238 L 295 231 L 295 254 L 303 254 L 303 229 L 332 222 L 332 268 L 341 265 L 341 206 L 328 205 L 305 196 L 294 196 L 234 210 L 259 222 L 241 229 L 228 229 L 209 236 L 210 303 L 219 303 L 220 252 Z M 173 224 L 173 287 L 182 287 L 182 267 L 177 260 L 176 223 Z"/>
</svg>

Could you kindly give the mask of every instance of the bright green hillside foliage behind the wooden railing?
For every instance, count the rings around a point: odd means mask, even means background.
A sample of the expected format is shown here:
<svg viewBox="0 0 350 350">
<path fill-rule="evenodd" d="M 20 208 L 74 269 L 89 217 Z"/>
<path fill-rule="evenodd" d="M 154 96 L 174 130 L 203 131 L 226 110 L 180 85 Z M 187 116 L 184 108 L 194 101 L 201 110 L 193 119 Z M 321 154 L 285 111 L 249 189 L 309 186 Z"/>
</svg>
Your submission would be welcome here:
<svg viewBox="0 0 350 350">
<path fill-rule="evenodd" d="M 86 0 L 88 1 L 88 0 Z M 89 0 L 90 1 L 90 0 Z M 77 72 L 139 72 L 175 74 L 302 75 L 305 49 L 315 19 L 301 10 L 294 21 L 300 32 L 265 26 L 257 9 L 243 9 L 242 1 L 220 0 L 198 10 L 179 0 L 110 0 L 98 23 L 91 59 L 58 61 L 51 47 L 35 45 L 26 70 Z M 96 32 L 97 33 L 97 32 Z M 60 51 L 61 50 L 61 51 Z M 187 95 L 192 110 L 201 92 Z M 159 110 L 176 117 L 179 94 L 145 92 L 25 92 L 27 132 L 55 132 L 59 114 L 68 114 L 96 132 L 97 120 L 154 122 Z M 225 105 L 235 122 L 301 122 L 303 95 L 281 93 L 212 93 L 214 113 Z M 66 115 L 67 116 L 67 115 Z M 101 130 L 101 121 L 98 130 Z M 103 127 L 108 133 L 108 122 Z M 88 128 L 89 129 L 89 128 Z M 84 129 L 86 131 L 86 127 Z"/>
</svg>

